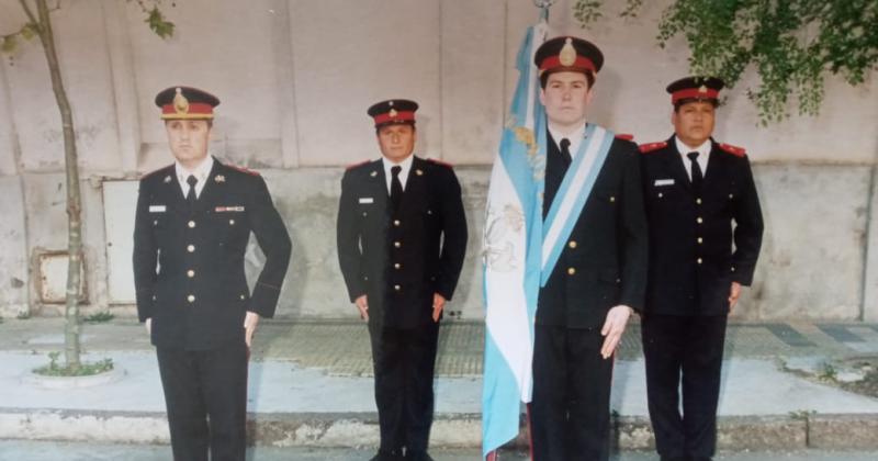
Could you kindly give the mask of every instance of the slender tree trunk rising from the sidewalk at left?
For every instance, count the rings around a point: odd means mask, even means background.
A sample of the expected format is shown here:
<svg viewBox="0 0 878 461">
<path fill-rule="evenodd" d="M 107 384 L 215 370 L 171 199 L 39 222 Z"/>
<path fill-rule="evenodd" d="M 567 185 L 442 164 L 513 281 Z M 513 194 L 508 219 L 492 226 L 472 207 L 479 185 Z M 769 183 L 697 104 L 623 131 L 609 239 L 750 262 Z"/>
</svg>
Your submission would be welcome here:
<svg viewBox="0 0 878 461">
<path fill-rule="evenodd" d="M 33 15 L 26 4 L 27 0 L 21 0 L 22 7 L 27 12 L 31 21 Z M 36 12 L 38 16 L 38 35 L 43 43 L 43 50 L 46 54 L 49 75 L 52 76 L 52 90 L 58 103 L 61 115 L 61 126 L 64 128 L 64 162 L 67 172 L 67 292 L 64 329 L 64 358 L 67 368 L 76 370 L 80 367 L 80 344 L 79 344 L 79 296 L 80 271 L 82 261 L 82 200 L 79 193 L 79 167 L 77 165 L 76 131 L 74 130 L 74 114 L 70 102 L 67 100 L 67 92 L 61 80 L 58 55 L 55 49 L 55 36 L 52 31 L 52 19 L 46 0 L 36 0 Z"/>
</svg>

